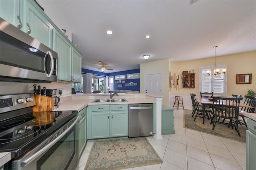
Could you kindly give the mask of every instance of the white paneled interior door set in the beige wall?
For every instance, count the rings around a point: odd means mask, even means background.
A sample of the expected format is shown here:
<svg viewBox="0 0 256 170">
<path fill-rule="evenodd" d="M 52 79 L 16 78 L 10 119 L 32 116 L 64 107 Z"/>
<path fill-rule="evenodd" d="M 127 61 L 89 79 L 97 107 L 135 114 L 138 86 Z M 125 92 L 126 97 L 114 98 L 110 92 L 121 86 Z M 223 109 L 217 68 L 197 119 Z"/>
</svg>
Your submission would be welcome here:
<svg viewBox="0 0 256 170">
<path fill-rule="evenodd" d="M 145 93 L 162 95 L 162 74 L 147 74 L 145 77 Z"/>
</svg>

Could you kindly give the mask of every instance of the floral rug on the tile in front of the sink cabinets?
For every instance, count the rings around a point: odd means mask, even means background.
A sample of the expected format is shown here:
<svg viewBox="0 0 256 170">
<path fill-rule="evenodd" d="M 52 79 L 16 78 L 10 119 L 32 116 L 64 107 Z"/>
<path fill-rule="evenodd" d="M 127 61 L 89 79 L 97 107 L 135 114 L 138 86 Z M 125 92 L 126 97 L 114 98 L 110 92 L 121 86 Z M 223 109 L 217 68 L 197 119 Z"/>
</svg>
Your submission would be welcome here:
<svg viewBox="0 0 256 170">
<path fill-rule="evenodd" d="M 95 141 L 85 170 L 120 170 L 162 163 L 146 137 Z"/>
</svg>

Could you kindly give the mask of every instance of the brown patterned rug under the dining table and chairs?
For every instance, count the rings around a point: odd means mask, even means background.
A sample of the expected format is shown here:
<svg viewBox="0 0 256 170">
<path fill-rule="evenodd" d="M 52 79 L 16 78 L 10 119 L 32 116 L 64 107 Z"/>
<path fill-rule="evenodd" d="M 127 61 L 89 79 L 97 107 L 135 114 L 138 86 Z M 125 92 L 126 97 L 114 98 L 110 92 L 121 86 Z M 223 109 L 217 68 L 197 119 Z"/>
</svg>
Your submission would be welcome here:
<svg viewBox="0 0 256 170">
<path fill-rule="evenodd" d="M 206 118 L 204 119 L 204 124 L 201 117 L 196 117 L 196 121 L 194 121 L 194 117 L 192 117 L 192 110 L 184 110 L 184 123 L 183 126 L 185 128 L 190 128 L 193 130 L 198 130 L 201 132 L 213 134 L 216 136 L 229 138 L 232 140 L 237 140 L 240 142 L 246 142 L 246 130 L 248 129 L 244 125 L 238 125 L 238 130 L 240 132 L 241 136 L 238 136 L 237 131 L 232 129 L 231 127 L 228 128 L 227 125 L 222 125 L 219 123 L 216 123 L 214 130 L 212 130 L 212 124 L 210 124 L 210 121 Z"/>
</svg>

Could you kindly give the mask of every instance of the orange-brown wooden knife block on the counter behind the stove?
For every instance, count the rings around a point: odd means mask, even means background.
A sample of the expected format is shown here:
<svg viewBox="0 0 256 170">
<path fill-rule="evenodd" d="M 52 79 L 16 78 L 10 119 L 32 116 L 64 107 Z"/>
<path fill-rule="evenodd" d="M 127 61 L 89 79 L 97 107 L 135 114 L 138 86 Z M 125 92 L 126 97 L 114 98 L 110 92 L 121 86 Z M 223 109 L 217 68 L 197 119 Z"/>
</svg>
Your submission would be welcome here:
<svg viewBox="0 0 256 170">
<path fill-rule="evenodd" d="M 53 97 L 34 95 L 36 105 L 32 108 L 34 112 L 53 111 L 54 100 Z"/>
</svg>

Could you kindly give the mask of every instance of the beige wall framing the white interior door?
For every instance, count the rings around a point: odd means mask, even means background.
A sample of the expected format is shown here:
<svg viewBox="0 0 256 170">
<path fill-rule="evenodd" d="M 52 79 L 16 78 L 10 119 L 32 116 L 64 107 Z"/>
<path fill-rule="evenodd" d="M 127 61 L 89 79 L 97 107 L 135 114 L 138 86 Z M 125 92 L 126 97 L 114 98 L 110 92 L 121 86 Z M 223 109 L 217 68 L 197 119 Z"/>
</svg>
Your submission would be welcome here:
<svg viewBox="0 0 256 170">
<path fill-rule="evenodd" d="M 169 105 L 169 59 L 146 62 L 140 64 L 140 92 L 145 93 L 145 75 L 146 74 L 162 74 L 162 104 Z"/>
</svg>

